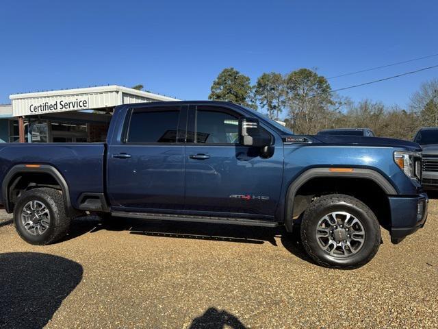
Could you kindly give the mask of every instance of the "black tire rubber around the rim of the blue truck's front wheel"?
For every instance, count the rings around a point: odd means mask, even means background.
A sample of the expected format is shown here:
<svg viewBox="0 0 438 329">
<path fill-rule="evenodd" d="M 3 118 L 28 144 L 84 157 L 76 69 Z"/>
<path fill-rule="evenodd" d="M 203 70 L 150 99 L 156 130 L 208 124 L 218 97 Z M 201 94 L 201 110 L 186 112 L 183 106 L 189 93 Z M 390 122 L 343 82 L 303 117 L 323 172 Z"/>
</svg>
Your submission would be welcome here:
<svg viewBox="0 0 438 329">
<path fill-rule="evenodd" d="M 355 216 L 365 230 L 365 241 L 357 254 L 346 258 L 332 256 L 325 252 L 316 237 L 316 228 L 322 217 L 331 212 L 348 212 Z M 381 229 L 374 212 L 355 197 L 342 194 L 324 195 L 315 199 L 302 217 L 300 228 L 302 245 L 307 254 L 324 267 L 356 269 L 368 263 L 376 255 L 381 244 Z"/>
</svg>

